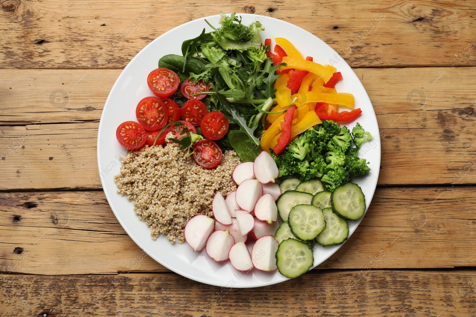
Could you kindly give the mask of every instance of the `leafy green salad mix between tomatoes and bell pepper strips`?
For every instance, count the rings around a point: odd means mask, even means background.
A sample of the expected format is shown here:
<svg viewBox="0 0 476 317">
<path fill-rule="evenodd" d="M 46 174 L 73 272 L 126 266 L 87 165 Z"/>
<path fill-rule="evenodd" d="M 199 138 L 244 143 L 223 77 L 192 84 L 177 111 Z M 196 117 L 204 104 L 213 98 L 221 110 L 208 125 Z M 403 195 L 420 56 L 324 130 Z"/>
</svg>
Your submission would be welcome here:
<svg viewBox="0 0 476 317">
<path fill-rule="evenodd" d="M 166 55 L 159 59 L 159 67 L 176 72 L 180 82 L 189 78 L 209 84 L 210 90 L 201 93 L 209 96 L 202 102 L 209 111 L 219 110 L 229 120 L 228 142 L 220 146 L 232 147 L 243 162 L 253 161 L 262 151 L 263 113 L 269 113 L 276 103 L 272 99 L 279 77 L 276 70 L 286 64 L 275 66 L 268 58 L 259 21 L 246 26 L 235 13 L 227 17 L 222 12 L 219 28 L 207 23 L 212 32 L 203 29 L 196 38 L 184 41 L 183 56 Z"/>
</svg>

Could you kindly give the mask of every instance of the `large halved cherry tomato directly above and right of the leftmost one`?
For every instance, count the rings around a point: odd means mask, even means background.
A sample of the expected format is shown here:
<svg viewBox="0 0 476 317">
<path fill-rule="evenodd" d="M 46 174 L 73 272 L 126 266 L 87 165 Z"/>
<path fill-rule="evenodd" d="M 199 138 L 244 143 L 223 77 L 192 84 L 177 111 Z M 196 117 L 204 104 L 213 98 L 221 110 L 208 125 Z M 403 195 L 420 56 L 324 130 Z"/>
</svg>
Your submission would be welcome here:
<svg viewBox="0 0 476 317">
<path fill-rule="evenodd" d="M 137 121 L 147 131 L 162 129 L 169 119 L 168 113 L 164 102 L 158 97 L 145 97 L 136 108 Z"/>
</svg>

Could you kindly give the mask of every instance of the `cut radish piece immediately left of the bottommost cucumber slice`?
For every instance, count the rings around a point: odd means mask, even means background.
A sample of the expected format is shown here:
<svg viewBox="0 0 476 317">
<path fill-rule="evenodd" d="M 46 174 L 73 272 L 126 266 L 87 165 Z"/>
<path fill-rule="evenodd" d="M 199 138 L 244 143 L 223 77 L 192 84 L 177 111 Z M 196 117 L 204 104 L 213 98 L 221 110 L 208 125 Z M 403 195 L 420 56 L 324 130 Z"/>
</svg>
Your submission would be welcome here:
<svg viewBox="0 0 476 317">
<path fill-rule="evenodd" d="M 274 271 L 277 269 L 276 251 L 278 250 L 278 245 L 278 241 L 273 236 L 259 238 L 255 242 L 253 250 L 251 250 L 251 260 L 255 268 L 262 271 Z"/>
</svg>

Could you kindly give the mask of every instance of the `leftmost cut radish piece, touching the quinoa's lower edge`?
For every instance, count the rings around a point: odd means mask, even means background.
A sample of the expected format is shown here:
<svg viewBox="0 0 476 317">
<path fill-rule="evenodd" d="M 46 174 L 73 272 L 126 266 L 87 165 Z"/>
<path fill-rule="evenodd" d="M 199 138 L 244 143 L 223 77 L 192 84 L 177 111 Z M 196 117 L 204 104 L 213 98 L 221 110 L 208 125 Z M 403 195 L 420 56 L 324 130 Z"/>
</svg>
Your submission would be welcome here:
<svg viewBox="0 0 476 317">
<path fill-rule="evenodd" d="M 200 251 L 205 247 L 207 239 L 213 232 L 215 221 L 205 215 L 196 215 L 187 221 L 184 229 L 185 241 L 193 251 Z"/>
</svg>

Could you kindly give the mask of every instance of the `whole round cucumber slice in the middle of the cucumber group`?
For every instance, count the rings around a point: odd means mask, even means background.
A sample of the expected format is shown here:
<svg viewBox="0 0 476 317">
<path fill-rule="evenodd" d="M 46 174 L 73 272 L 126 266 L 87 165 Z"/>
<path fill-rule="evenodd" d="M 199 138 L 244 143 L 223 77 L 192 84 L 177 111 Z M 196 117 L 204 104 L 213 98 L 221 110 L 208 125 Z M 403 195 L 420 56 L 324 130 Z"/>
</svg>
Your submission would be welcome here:
<svg viewBox="0 0 476 317">
<path fill-rule="evenodd" d="M 324 213 L 313 205 L 297 205 L 289 212 L 289 228 L 301 240 L 312 240 L 326 228 Z"/>
</svg>

